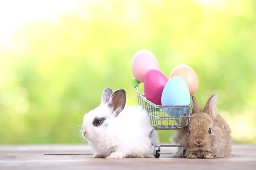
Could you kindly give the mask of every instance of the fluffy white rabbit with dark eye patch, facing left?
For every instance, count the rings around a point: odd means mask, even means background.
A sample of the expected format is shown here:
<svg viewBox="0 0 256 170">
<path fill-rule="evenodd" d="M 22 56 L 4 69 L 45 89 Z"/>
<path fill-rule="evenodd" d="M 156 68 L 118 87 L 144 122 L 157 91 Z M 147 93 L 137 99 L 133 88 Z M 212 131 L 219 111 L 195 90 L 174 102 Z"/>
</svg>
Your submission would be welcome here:
<svg viewBox="0 0 256 170">
<path fill-rule="evenodd" d="M 150 117 L 141 106 L 125 107 L 123 89 L 104 89 L 101 104 L 84 114 L 82 135 L 96 150 L 93 158 L 144 158 L 150 153 L 151 141 L 158 143 Z"/>
</svg>

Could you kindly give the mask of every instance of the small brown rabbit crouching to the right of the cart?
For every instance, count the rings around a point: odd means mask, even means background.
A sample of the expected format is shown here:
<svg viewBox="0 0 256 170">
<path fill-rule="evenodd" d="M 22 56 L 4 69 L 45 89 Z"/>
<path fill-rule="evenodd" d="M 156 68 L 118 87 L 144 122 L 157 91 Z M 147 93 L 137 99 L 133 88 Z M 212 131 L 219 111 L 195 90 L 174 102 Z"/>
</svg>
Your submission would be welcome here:
<svg viewBox="0 0 256 170">
<path fill-rule="evenodd" d="M 217 114 L 217 95 L 213 94 L 201 110 L 196 98 L 192 96 L 193 108 L 187 127 L 176 130 L 174 141 L 182 144 L 175 157 L 185 158 L 223 158 L 233 155 L 230 127 Z"/>
</svg>

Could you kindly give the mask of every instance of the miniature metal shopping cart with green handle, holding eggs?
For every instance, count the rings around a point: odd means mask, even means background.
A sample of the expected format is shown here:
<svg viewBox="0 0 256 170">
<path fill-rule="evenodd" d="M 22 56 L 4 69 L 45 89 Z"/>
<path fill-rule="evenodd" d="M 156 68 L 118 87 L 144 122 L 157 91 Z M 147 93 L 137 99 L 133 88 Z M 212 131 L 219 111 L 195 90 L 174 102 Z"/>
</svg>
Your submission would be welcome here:
<svg viewBox="0 0 256 170">
<path fill-rule="evenodd" d="M 148 115 L 151 119 L 152 130 L 149 134 L 151 139 L 151 134 L 154 130 L 174 130 L 180 129 L 182 127 L 186 127 L 189 125 L 190 121 L 190 110 L 192 105 L 185 105 L 185 106 L 162 106 L 162 105 L 155 105 L 154 103 L 150 102 L 148 99 L 145 98 L 145 94 L 143 93 L 140 95 L 138 86 L 140 82 L 137 79 L 132 79 L 132 83 L 134 88 L 136 88 L 137 98 L 138 98 L 138 105 L 143 106 L 145 111 L 148 112 Z M 174 114 L 174 116 L 169 116 L 169 114 L 165 113 L 163 109 L 174 109 L 174 113 L 176 109 L 180 110 L 180 114 Z M 186 113 L 181 114 L 181 109 L 186 108 Z M 181 144 L 155 144 L 151 142 L 152 146 L 154 147 L 154 157 L 160 157 L 160 147 L 183 147 Z"/>
</svg>

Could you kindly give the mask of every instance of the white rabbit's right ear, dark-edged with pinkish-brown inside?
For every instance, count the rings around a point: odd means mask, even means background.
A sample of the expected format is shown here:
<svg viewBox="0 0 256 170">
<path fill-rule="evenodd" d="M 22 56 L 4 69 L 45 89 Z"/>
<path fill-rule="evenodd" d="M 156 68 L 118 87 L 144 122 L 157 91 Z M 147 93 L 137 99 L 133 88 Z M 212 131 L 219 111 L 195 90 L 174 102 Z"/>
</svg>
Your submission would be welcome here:
<svg viewBox="0 0 256 170">
<path fill-rule="evenodd" d="M 119 89 L 111 95 L 108 107 L 111 109 L 113 116 L 117 116 L 124 108 L 126 103 L 126 92 L 124 89 Z"/>
</svg>

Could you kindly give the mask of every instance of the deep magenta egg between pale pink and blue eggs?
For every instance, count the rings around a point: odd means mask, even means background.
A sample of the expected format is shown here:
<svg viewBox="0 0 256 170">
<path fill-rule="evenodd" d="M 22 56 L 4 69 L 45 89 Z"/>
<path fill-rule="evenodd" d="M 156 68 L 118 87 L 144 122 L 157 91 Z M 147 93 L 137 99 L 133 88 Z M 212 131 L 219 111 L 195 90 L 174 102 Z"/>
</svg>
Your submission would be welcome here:
<svg viewBox="0 0 256 170">
<path fill-rule="evenodd" d="M 168 78 L 159 70 L 150 69 L 144 79 L 144 93 L 150 102 L 161 105 L 163 88 Z"/>
</svg>

